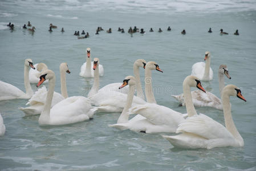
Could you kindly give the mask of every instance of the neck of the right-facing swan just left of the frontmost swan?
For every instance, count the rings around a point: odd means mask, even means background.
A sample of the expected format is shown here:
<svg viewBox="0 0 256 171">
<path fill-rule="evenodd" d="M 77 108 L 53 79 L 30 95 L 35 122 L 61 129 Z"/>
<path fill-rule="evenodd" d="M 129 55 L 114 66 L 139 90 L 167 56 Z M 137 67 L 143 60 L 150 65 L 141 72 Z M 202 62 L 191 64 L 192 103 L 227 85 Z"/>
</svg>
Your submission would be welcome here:
<svg viewBox="0 0 256 171">
<path fill-rule="evenodd" d="M 186 112 L 188 113 L 188 117 L 197 115 L 197 111 L 194 108 L 194 104 L 192 101 L 190 86 L 188 85 L 188 83 L 186 83 L 186 80 L 183 82 L 183 94 L 184 94 L 184 100 L 185 100 L 185 104 L 186 104 Z"/>
</svg>

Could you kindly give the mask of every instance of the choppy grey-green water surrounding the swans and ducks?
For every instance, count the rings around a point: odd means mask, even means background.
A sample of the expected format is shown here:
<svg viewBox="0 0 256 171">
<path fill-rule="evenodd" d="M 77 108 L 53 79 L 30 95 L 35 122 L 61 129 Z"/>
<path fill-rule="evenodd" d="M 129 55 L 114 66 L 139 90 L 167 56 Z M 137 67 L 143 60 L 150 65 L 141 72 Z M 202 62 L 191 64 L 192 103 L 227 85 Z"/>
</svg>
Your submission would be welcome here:
<svg viewBox="0 0 256 171">
<path fill-rule="evenodd" d="M 233 119 L 245 141 L 243 148 L 184 150 L 162 139 L 164 133 L 145 135 L 109 128 L 120 113 L 99 113 L 93 120 L 61 127 L 39 127 L 38 116 L 25 116 L 18 109 L 27 100 L 0 101 L 6 125 L 5 136 L 0 137 L 0 169 L 255 170 L 255 20 L 255 1 L 1 1 L 0 80 L 22 90 L 24 59 L 31 58 L 55 71 L 57 92 L 59 64 L 67 62 L 69 96 L 86 96 L 93 80 L 80 78 L 79 72 L 86 48 L 91 47 L 92 58 L 100 58 L 104 66 L 101 86 L 132 75 L 136 59 L 154 60 L 164 71 L 152 74 L 157 103 L 185 113 L 170 95 L 182 92 L 182 81 L 192 65 L 203 61 L 205 51 L 210 51 L 214 80 L 202 86 L 218 95 L 217 70 L 220 64 L 227 64 L 232 79 L 226 83 L 241 88 L 247 102 L 231 98 Z M 22 30 L 27 21 L 36 27 L 34 35 Z M 14 31 L 6 27 L 9 22 L 14 23 Z M 50 34 L 50 23 L 64 27 L 65 32 L 58 28 Z M 111 27 L 113 32 L 95 35 L 97 26 Z M 144 28 L 146 34 L 131 37 L 116 31 L 123 27 L 127 32 L 130 26 Z M 168 26 L 171 32 L 166 31 Z M 155 32 L 148 32 L 151 27 Z M 162 33 L 156 32 L 159 27 Z M 207 32 L 209 27 L 212 34 Z M 180 34 L 184 28 L 185 36 Z M 220 28 L 229 35 L 220 36 Z M 233 35 L 236 29 L 239 36 Z M 91 36 L 78 40 L 75 30 L 88 31 Z M 197 108 L 197 112 L 224 124 L 221 111 Z"/>
</svg>

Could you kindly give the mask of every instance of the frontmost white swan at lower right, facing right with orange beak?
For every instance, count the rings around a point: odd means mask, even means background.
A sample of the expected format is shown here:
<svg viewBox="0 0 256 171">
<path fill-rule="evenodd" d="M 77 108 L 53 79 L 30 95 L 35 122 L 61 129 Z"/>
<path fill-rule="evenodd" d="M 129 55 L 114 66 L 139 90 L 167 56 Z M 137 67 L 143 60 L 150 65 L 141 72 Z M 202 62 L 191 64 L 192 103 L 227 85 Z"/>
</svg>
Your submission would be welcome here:
<svg viewBox="0 0 256 171">
<path fill-rule="evenodd" d="M 177 129 L 176 136 L 163 136 L 173 146 L 181 148 L 206 148 L 224 146 L 243 146 L 243 138 L 237 131 L 231 115 L 230 96 L 237 96 L 245 100 L 241 95 L 241 90 L 234 85 L 227 85 L 223 89 L 221 96 L 225 126 L 211 119 L 210 117 L 200 114 L 188 117 L 182 122 Z"/>
</svg>

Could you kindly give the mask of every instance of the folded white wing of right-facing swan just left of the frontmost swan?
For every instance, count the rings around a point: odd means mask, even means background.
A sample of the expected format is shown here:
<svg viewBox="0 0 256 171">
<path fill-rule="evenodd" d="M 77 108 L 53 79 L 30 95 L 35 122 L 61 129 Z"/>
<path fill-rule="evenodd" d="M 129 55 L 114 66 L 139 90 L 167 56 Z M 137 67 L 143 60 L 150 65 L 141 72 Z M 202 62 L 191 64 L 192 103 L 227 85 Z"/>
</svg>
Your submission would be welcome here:
<svg viewBox="0 0 256 171">
<path fill-rule="evenodd" d="M 162 105 L 146 103 L 141 105 L 135 105 L 130 110 L 130 113 L 137 113 L 141 116 L 146 117 L 151 123 L 156 125 L 173 125 L 177 127 L 181 121 L 184 120 L 182 114 L 173 111 L 170 108 L 164 107 Z"/>
</svg>

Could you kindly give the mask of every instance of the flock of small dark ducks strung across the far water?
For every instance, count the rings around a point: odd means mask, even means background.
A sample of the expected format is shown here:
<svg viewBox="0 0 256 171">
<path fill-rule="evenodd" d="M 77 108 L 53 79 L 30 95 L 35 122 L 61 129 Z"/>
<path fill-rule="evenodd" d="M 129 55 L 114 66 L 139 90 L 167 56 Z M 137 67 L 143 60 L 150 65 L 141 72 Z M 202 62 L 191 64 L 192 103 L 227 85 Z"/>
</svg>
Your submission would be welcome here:
<svg viewBox="0 0 256 171">
<path fill-rule="evenodd" d="M 13 25 L 13 24 L 9 23 L 7 26 L 10 27 L 10 30 L 14 30 L 14 25 Z M 30 21 L 27 22 L 27 26 L 28 26 L 28 27 L 32 27 Z M 25 24 L 25 25 L 23 25 L 22 28 L 23 28 L 23 29 L 27 29 L 27 30 L 29 30 L 30 32 L 35 32 L 35 27 L 34 27 L 34 26 L 33 26 L 32 28 L 27 28 L 27 26 L 26 26 L 26 24 Z M 49 31 L 49 32 L 52 32 L 52 28 L 58 28 L 58 27 L 55 26 L 55 25 L 52 25 L 52 23 L 50 23 L 50 27 L 49 27 L 49 30 L 48 30 L 48 31 Z M 166 30 L 167 30 L 167 31 L 171 31 L 172 28 L 170 28 L 170 26 L 169 26 Z M 95 34 L 98 35 L 100 31 L 104 31 L 104 29 L 103 29 L 102 27 L 97 27 Z M 120 28 L 120 27 L 117 29 L 117 31 L 119 31 L 119 32 L 121 32 L 121 33 L 124 33 L 124 32 L 125 32 L 125 31 L 124 31 L 124 28 Z M 65 32 L 63 27 L 62 27 L 61 32 Z M 112 33 L 112 28 L 109 28 L 106 32 L 107 32 L 107 33 Z M 140 32 L 140 34 L 145 34 L 144 28 L 139 29 L 139 28 L 137 28 L 137 27 L 135 26 L 135 27 L 133 27 L 133 28 L 130 27 L 130 28 L 128 29 L 128 33 L 131 34 L 131 35 L 132 35 L 133 33 L 136 33 L 136 32 Z M 150 28 L 149 32 L 154 32 L 153 28 Z M 162 32 L 161 28 L 159 28 L 159 30 L 158 30 L 157 32 Z M 213 31 L 212 31 L 212 28 L 209 28 L 208 32 L 209 32 L 209 33 L 212 33 L 212 32 L 213 32 Z M 186 30 L 185 30 L 185 29 L 182 30 L 182 31 L 181 31 L 181 34 L 182 34 L 182 35 L 185 35 L 185 34 L 186 34 Z M 226 35 L 226 34 L 228 34 L 228 33 L 227 33 L 227 32 L 224 32 L 223 29 L 221 28 L 221 30 L 220 30 L 220 35 Z M 88 33 L 88 32 L 85 32 L 84 30 L 83 30 L 82 33 L 81 33 L 81 35 L 84 35 L 84 36 L 80 36 L 80 32 L 79 32 L 79 31 L 75 31 L 74 35 L 78 36 L 78 39 L 89 38 L 89 36 L 90 36 L 89 33 Z M 239 35 L 238 30 L 235 30 L 234 35 Z"/>
</svg>

